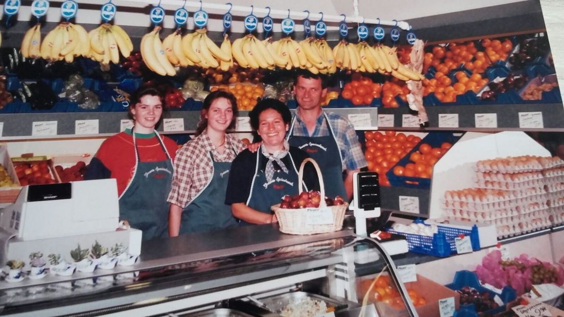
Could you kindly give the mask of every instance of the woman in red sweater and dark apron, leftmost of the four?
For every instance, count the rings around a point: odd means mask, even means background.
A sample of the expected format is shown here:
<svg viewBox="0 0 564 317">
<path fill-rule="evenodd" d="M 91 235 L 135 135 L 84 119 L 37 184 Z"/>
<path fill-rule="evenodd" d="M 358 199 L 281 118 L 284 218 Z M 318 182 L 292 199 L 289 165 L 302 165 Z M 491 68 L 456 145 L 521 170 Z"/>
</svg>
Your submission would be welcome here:
<svg viewBox="0 0 564 317">
<path fill-rule="evenodd" d="M 166 237 L 166 197 L 173 177 L 177 144 L 161 137 L 163 97 L 153 87 L 131 95 L 128 108 L 132 129 L 105 140 L 92 158 L 86 179 L 115 178 L 120 197 L 120 219 L 143 231 L 143 240 Z"/>
</svg>

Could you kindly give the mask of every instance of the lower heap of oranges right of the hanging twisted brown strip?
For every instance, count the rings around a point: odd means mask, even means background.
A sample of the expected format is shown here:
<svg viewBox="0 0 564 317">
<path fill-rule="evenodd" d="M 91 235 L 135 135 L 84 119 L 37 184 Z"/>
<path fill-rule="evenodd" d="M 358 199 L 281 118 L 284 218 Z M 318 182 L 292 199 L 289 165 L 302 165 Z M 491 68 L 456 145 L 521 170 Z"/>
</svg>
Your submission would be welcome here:
<svg viewBox="0 0 564 317">
<path fill-rule="evenodd" d="M 459 71 L 455 74 L 456 83 L 442 72 L 435 73 L 435 78 L 430 80 L 425 78 L 422 81 L 423 95 L 426 96 L 430 93 L 435 93 L 440 102 L 448 103 L 455 102 L 456 96 L 466 93 L 466 91 L 474 91 L 478 93 L 480 89 L 488 83 L 486 78 L 482 78 L 481 74 L 473 73 L 468 77 L 465 72 Z"/>
</svg>

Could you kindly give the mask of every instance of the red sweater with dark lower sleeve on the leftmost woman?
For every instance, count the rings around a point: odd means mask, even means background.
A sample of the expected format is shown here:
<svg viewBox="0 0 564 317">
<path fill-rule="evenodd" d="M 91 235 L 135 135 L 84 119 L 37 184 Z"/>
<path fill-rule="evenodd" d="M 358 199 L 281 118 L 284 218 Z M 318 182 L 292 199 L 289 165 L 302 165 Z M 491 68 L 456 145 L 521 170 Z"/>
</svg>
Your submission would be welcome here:
<svg viewBox="0 0 564 317">
<path fill-rule="evenodd" d="M 155 134 L 136 133 L 135 143 L 139 151 L 139 160 L 142 162 L 155 162 L 166 160 L 166 154 L 162 150 Z M 177 144 L 170 138 L 161 135 L 162 141 L 169 152 L 170 158 L 174 160 Z M 135 148 L 133 147 L 133 136 L 131 130 L 120 132 L 106 139 L 86 170 L 85 179 L 115 178 L 117 180 L 117 195 L 127 187 L 133 169 L 135 168 Z"/>
</svg>

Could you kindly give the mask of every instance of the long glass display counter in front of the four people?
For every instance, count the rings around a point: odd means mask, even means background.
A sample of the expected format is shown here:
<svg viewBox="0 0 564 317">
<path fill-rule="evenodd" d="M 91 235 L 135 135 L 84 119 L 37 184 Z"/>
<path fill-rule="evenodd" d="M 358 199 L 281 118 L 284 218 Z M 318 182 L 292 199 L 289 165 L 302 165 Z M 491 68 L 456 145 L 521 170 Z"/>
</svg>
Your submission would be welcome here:
<svg viewBox="0 0 564 317">
<path fill-rule="evenodd" d="M 417 316 L 380 244 L 251 226 L 144 243 L 138 263 L 0 281 L 20 316 Z"/>
</svg>

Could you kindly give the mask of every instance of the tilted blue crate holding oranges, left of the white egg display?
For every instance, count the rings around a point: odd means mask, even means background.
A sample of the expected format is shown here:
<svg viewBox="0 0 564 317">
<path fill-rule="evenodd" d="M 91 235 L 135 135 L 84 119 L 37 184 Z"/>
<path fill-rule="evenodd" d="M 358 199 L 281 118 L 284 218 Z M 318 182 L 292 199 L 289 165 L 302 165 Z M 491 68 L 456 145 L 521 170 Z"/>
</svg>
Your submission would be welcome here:
<svg viewBox="0 0 564 317">
<path fill-rule="evenodd" d="M 399 162 L 397 162 L 394 166 L 403 166 L 405 167 L 409 163 L 409 156 L 411 153 L 417 151 L 419 146 L 422 143 L 427 143 L 431 147 L 440 147 L 440 144 L 443 142 L 449 142 L 454 144 L 460 136 L 454 135 L 448 132 L 435 132 L 429 133 L 425 138 L 421 140 L 415 147 L 407 153 Z M 419 177 L 407 177 L 407 176 L 396 176 L 394 175 L 394 166 L 390 168 L 390 170 L 386 173 L 386 177 L 390 180 L 391 186 L 400 186 L 400 187 L 410 187 L 410 188 L 424 188 L 429 189 L 431 187 L 431 179 L 430 178 L 419 178 Z"/>
</svg>

